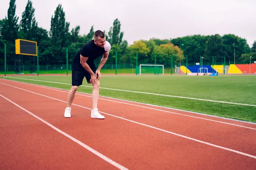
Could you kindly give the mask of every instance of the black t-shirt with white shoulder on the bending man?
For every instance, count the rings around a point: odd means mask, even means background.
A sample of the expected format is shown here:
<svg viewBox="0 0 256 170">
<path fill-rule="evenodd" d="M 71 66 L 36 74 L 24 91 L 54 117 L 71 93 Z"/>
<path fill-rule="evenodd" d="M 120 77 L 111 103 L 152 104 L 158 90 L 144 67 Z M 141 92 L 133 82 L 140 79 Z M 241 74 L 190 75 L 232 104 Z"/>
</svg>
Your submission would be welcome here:
<svg viewBox="0 0 256 170">
<path fill-rule="evenodd" d="M 102 56 L 104 53 L 109 53 L 111 49 L 111 45 L 109 42 L 106 41 L 105 46 L 98 47 L 95 43 L 94 40 L 90 40 L 84 44 L 84 46 L 76 53 L 73 61 L 76 62 L 77 65 L 79 65 L 78 69 L 84 69 L 84 67 L 80 63 L 80 54 L 83 57 L 88 57 L 87 59 L 87 64 L 89 66 L 95 66 L 94 60 L 97 59 L 98 57 Z"/>
</svg>

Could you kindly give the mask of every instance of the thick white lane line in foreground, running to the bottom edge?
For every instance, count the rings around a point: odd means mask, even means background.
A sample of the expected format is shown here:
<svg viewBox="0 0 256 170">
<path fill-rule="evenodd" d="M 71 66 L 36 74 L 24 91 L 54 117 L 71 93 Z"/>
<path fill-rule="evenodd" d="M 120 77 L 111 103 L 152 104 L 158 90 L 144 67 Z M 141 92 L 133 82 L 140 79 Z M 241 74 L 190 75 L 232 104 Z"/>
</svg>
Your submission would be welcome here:
<svg viewBox="0 0 256 170">
<path fill-rule="evenodd" d="M 45 121 L 44 119 L 41 119 L 40 117 L 36 116 L 35 114 L 31 113 L 30 111 L 26 110 L 25 108 L 21 107 L 20 105 L 17 105 L 15 102 L 12 102 L 10 99 L 6 98 L 5 96 L 1 95 L 4 99 L 8 100 L 9 102 L 11 102 L 12 104 L 16 105 L 17 107 L 21 108 L 23 111 L 26 111 L 27 113 L 31 114 L 32 116 L 34 116 L 35 118 L 41 120 L 42 122 L 44 122 L 46 125 L 48 125 L 49 127 L 52 127 L 54 130 L 58 131 L 59 133 L 61 133 L 62 135 L 68 137 L 69 139 L 73 140 L 74 142 L 78 143 L 79 145 L 81 145 L 82 147 L 84 147 L 85 149 L 89 150 L 90 152 L 94 153 L 96 156 L 99 156 L 101 159 L 104 159 L 105 161 L 107 161 L 108 163 L 112 164 L 115 167 L 118 167 L 120 170 L 128 170 L 126 167 L 123 167 L 122 165 L 116 163 L 115 161 L 109 159 L 107 156 L 102 155 L 101 153 L 99 153 L 98 151 L 94 150 L 93 148 L 87 146 L 86 144 L 84 144 L 83 142 L 77 140 L 76 138 L 74 138 L 73 136 L 70 136 L 69 134 L 63 132 L 62 130 L 58 129 L 57 127 L 53 126 L 52 124 L 48 123 L 47 121 Z"/>
</svg>

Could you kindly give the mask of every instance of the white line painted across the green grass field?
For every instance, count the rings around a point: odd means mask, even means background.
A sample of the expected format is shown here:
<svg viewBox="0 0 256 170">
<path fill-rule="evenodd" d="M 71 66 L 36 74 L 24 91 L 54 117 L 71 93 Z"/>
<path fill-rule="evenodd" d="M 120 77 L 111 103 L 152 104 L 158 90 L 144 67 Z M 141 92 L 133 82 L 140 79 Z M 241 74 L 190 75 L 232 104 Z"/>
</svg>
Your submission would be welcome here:
<svg viewBox="0 0 256 170">
<path fill-rule="evenodd" d="M 24 79 L 24 78 L 18 78 L 18 77 L 9 77 L 9 78 Z M 25 79 L 25 80 L 32 80 L 32 81 L 38 81 L 38 82 L 50 82 L 50 81 L 35 80 L 35 79 Z M 50 83 L 56 83 L 56 84 L 62 84 L 62 85 L 70 85 L 69 83 L 63 83 L 63 82 L 50 82 Z M 92 88 L 92 86 L 88 86 L 88 85 L 81 85 L 81 86 Z M 100 87 L 100 88 L 102 88 L 102 87 Z M 193 100 L 201 100 L 201 101 L 207 101 L 207 102 L 219 102 L 219 103 L 227 103 L 227 104 L 233 104 L 233 105 L 244 105 L 244 106 L 254 106 L 254 107 L 256 107 L 256 105 L 249 105 L 249 104 L 244 104 L 244 103 L 234 103 L 234 102 L 224 102 L 224 101 L 217 101 L 217 100 L 197 99 L 197 98 L 192 98 L 192 97 L 172 96 L 172 95 L 166 95 L 166 94 L 154 94 L 154 93 L 147 93 L 147 92 L 141 92 L 141 91 L 128 91 L 128 90 L 113 89 L 113 88 L 102 88 L 102 89 L 114 90 L 114 91 L 125 91 L 125 92 L 140 93 L 140 94 L 151 94 L 151 95 L 157 95 L 157 96 L 177 97 L 177 98 L 183 98 L 183 99 L 193 99 Z"/>
</svg>

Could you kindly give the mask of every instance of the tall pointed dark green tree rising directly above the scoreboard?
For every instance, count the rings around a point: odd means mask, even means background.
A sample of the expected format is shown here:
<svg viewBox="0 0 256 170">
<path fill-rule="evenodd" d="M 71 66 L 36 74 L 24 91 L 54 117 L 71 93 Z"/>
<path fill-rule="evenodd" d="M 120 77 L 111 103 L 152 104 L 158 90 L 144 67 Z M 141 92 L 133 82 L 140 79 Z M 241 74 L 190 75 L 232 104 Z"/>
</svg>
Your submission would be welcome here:
<svg viewBox="0 0 256 170">
<path fill-rule="evenodd" d="M 32 7 L 31 0 L 28 0 L 25 11 L 22 13 L 20 27 L 27 40 L 36 41 L 38 23 L 34 17 L 35 8 Z"/>
</svg>

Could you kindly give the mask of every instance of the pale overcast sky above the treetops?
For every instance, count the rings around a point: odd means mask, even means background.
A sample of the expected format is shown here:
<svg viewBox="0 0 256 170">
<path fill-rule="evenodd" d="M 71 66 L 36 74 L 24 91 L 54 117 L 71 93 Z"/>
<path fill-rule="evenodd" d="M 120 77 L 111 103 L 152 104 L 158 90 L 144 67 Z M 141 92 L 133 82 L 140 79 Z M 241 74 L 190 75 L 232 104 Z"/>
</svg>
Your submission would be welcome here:
<svg viewBox="0 0 256 170">
<path fill-rule="evenodd" d="M 0 19 L 7 16 L 10 0 L 1 0 Z M 21 19 L 27 0 L 16 0 Z M 109 31 L 118 18 L 124 40 L 152 37 L 170 39 L 186 35 L 235 34 L 250 45 L 256 40 L 256 0 L 32 0 L 38 26 L 49 31 L 51 17 L 61 3 L 70 30 L 80 26 L 79 34 Z"/>
</svg>

